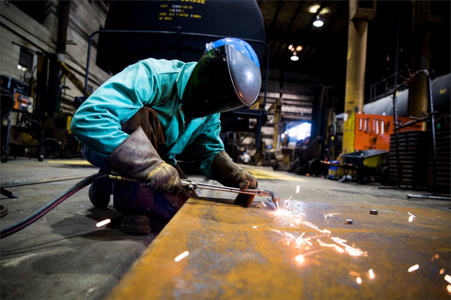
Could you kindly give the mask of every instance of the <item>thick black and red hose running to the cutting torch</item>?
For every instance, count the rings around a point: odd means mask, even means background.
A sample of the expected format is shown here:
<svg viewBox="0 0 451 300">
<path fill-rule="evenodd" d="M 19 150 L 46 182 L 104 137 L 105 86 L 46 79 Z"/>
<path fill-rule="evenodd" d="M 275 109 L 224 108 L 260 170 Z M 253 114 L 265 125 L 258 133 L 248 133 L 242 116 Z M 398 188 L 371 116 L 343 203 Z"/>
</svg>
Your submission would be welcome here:
<svg viewBox="0 0 451 300">
<path fill-rule="evenodd" d="M 82 189 L 83 187 L 93 183 L 96 180 L 108 178 L 108 176 L 109 176 L 108 173 L 97 173 L 97 174 L 86 177 L 85 179 L 81 180 L 80 182 L 78 182 L 77 184 L 75 184 L 74 186 L 72 186 L 71 188 L 69 188 L 68 190 L 66 190 L 65 192 L 63 192 L 62 194 L 57 196 L 56 198 L 54 198 L 52 201 L 47 203 L 45 206 L 43 206 L 39 210 L 35 211 L 34 213 L 30 214 L 29 216 L 27 216 L 26 218 L 20 220 L 19 222 L 15 223 L 15 224 L 12 224 L 10 226 L 0 229 L 0 238 L 7 237 L 8 235 L 11 235 L 11 234 L 27 227 L 31 223 L 38 220 L 40 217 L 44 216 L 47 212 L 49 212 L 50 210 L 55 208 L 58 204 L 60 204 L 64 200 L 66 200 L 68 197 L 70 197 L 71 195 L 73 195 L 74 193 L 76 193 L 77 191 Z"/>
</svg>

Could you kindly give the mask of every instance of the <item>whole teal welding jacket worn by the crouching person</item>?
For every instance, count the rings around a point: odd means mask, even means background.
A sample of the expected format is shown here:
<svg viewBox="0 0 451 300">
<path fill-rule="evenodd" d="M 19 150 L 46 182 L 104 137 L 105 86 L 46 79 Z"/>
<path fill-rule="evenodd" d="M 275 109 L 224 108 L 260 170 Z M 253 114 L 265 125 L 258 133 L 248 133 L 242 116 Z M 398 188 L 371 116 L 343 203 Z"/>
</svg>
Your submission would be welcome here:
<svg viewBox="0 0 451 300">
<path fill-rule="evenodd" d="M 196 62 L 148 58 L 126 67 L 78 108 L 71 122 L 72 133 L 106 158 L 128 137 L 121 124 L 147 105 L 157 112 L 163 127 L 166 145 L 159 152 L 166 155 L 162 158 L 175 165 L 175 155 L 192 145 L 195 162 L 210 178 L 214 155 L 224 151 L 219 137 L 219 113 L 191 119 L 185 127 L 181 109 L 183 90 L 195 65 Z"/>
</svg>

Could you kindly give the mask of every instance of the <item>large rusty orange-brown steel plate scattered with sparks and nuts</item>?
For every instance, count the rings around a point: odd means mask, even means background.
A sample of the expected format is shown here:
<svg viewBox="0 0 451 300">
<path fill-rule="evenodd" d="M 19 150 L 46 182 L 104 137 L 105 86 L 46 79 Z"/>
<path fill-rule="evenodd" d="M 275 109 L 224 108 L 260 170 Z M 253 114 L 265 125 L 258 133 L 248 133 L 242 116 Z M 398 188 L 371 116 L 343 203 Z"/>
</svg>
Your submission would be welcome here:
<svg viewBox="0 0 451 300">
<path fill-rule="evenodd" d="M 276 218 L 229 202 L 189 199 L 108 298 L 449 299 L 445 211 L 291 200 L 295 218 Z"/>
</svg>

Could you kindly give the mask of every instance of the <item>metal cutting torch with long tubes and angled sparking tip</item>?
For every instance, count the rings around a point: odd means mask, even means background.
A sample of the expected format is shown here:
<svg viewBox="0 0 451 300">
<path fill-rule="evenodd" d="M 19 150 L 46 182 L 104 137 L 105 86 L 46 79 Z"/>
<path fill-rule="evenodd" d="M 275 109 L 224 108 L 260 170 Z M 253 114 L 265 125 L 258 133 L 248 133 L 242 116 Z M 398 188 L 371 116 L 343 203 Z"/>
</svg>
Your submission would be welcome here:
<svg viewBox="0 0 451 300">
<path fill-rule="evenodd" d="M 111 173 L 110 179 L 120 180 L 120 181 L 138 182 L 137 179 L 125 177 L 125 176 L 122 176 L 122 175 L 119 175 L 116 173 Z M 269 190 L 265 190 L 265 189 L 240 189 L 238 187 L 201 183 L 196 180 L 189 180 L 189 179 L 180 179 L 180 181 L 182 183 L 183 188 L 186 191 L 194 190 L 197 188 L 202 188 L 202 189 L 213 189 L 213 190 L 219 190 L 219 191 L 244 193 L 244 194 L 248 194 L 248 195 L 256 195 L 256 196 L 261 196 L 261 197 L 271 197 L 271 198 L 268 198 L 268 200 L 276 205 L 276 209 L 280 208 L 280 198 L 279 198 L 279 195 L 277 194 L 277 192 L 275 192 L 275 191 L 269 191 Z"/>
</svg>

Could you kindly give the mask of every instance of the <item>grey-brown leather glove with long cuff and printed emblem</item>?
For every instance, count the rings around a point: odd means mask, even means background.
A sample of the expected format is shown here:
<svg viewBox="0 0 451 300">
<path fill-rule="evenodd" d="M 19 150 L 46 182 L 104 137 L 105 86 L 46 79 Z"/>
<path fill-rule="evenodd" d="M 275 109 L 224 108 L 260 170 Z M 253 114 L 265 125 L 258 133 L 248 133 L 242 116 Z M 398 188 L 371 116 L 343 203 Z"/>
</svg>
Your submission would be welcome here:
<svg viewBox="0 0 451 300">
<path fill-rule="evenodd" d="M 139 179 L 143 185 L 173 195 L 182 190 L 177 170 L 164 162 L 139 127 L 107 157 L 112 169 Z"/>
</svg>

